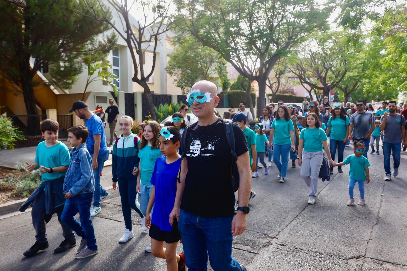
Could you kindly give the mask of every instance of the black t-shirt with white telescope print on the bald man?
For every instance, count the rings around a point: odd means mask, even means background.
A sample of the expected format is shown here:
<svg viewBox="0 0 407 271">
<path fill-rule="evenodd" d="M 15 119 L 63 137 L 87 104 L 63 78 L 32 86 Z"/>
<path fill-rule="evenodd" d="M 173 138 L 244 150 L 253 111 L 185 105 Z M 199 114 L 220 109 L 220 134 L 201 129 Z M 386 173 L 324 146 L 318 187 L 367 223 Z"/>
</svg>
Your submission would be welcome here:
<svg viewBox="0 0 407 271">
<path fill-rule="evenodd" d="M 241 127 L 235 122 L 232 125 L 236 155 L 240 156 L 249 149 Z M 199 126 L 198 122 L 188 132 L 185 146 L 188 173 L 181 209 L 203 217 L 233 216 L 233 160 L 224 124 L 220 119 L 208 126 Z"/>
</svg>

